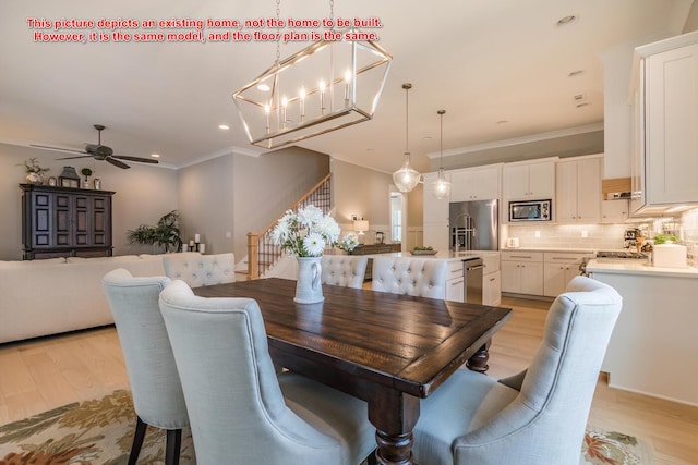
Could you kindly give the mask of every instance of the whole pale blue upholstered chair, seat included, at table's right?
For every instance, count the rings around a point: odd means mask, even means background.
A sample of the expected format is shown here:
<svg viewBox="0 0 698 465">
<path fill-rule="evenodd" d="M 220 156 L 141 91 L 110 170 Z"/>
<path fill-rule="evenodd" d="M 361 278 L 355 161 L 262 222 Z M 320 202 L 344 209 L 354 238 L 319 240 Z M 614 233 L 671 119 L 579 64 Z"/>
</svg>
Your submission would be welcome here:
<svg viewBox="0 0 698 465">
<path fill-rule="evenodd" d="M 578 464 L 601 363 L 623 301 L 575 277 L 555 298 L 527 370 L 494 380 L 458 369 L 422 401 L 419 463 Z"/>
</svg>

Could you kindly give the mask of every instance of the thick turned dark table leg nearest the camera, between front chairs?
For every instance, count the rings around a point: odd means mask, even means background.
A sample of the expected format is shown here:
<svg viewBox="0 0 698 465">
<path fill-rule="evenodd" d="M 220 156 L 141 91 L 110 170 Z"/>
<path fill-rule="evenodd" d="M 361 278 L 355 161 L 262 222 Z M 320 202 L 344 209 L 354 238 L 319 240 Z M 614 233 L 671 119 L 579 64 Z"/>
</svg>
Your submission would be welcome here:
<svg viewBox="0 0 698 465">
<path fill-rule="evenodd" d="M 412 429 L 419 418 L 419 399 L 398 391 L 373 393 L 369 419 L 375 426 L 378 465 L 412 465 Z"/>
</svg>

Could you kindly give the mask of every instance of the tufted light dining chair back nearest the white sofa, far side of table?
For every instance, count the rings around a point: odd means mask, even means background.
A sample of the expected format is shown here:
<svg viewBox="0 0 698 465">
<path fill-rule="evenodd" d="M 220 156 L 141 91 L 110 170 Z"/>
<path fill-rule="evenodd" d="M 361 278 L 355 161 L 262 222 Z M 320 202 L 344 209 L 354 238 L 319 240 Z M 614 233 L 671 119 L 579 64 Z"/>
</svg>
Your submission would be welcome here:
<svg viewBox="0 0 698 465">
<path fill-rule="evenodd" d="M 165 274 L 192 287 L 224 284 L 236 280 L 232 253 L 216 255 L 167 254 L 163 257 Z"/>
</svg>

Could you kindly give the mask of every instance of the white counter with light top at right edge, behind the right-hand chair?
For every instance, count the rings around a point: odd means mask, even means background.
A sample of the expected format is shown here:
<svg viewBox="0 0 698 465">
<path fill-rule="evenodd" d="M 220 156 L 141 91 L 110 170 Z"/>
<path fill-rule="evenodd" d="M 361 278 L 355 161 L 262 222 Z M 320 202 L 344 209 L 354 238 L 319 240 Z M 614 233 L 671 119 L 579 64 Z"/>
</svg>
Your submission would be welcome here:
<svg viewBox="0 0 698 465">
<path fill-rule="evenodd" d="M 609 386 L 698 405 L 698 269 L 594 259 L 587 272 L 623 296 L 602 366 Z"/>
</svg>

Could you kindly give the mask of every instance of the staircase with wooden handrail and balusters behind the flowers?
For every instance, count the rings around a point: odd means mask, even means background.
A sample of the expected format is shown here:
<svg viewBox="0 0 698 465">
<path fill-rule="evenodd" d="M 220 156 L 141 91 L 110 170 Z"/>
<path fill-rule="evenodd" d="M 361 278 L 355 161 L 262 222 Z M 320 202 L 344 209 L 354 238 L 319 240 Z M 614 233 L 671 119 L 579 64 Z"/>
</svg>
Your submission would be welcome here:
<svg viewBox="0 0 698 465">
<path fill-rule="evenodd" d="M 296 210 L 299 207 L 314 205 L 322 209 L 325 215 L 329 213 L 332 209 L 330 176 L 332 174 L 327 174 L 288 209 Z M 284 255 L 281 247 L 274 244 L 272 240 L 272 231 L 277 222 L 278 219 L 274 220 L 274 222 L 261 233 L 248 233 L 248 279 L 252 280 L 263 277 Z"/>
</svg>

